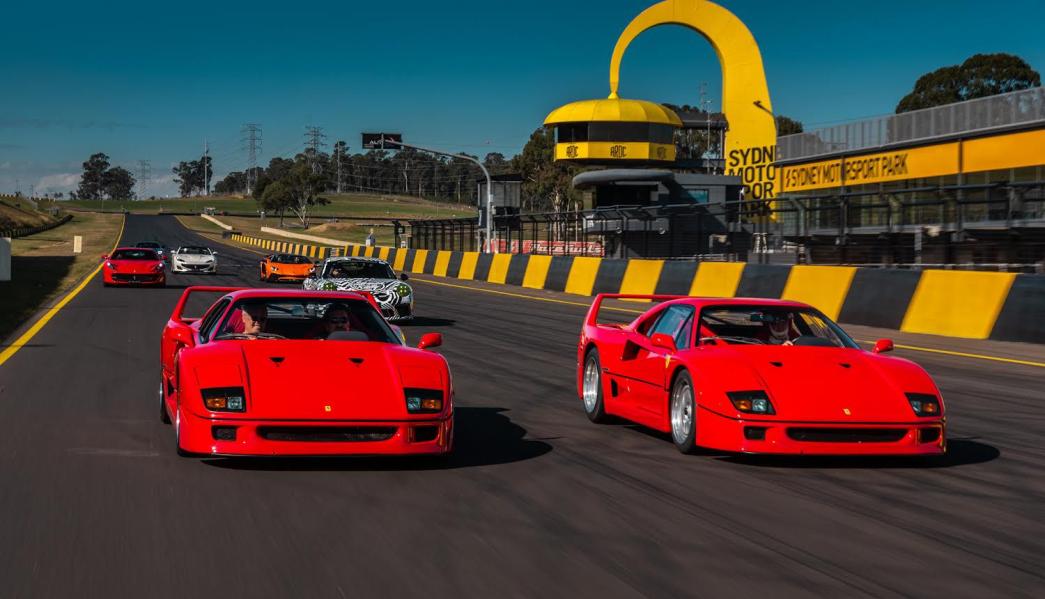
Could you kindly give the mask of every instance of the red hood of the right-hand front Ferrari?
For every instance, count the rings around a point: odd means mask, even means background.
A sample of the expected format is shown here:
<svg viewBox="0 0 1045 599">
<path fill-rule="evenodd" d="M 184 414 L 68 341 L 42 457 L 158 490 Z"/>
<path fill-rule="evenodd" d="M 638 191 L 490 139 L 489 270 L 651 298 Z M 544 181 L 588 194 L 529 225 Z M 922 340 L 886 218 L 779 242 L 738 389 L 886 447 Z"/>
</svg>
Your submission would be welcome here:
<svg viewBox="0 0 1045 599">
<path fill-rule="evenodd" d="M 836 422 L 897 422 L 913 418 L 905 392 L 937 393 L 918 365 L 861 349 L 795 346 L 730 346 L 733 368 L 718 390 L 764 389 L 776 411 L 774 419 Z M 726 355 L 722 355 L 726 359 Z"/>
</svg>

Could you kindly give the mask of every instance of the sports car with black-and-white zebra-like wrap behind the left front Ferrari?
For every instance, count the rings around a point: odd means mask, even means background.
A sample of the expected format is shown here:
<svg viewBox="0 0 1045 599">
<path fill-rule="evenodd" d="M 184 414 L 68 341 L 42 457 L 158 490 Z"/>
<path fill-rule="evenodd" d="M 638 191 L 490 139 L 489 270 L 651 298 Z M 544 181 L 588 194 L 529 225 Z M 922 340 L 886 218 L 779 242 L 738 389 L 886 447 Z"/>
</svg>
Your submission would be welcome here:
<svg viewBox="0 0 1045 599">
<path fill-rule="evenodd" d="M 388 320 L 414 318 L 414 290 L 407 284 L 405 273 L 395 274 L 392 267 L 377 258 L 327 258 L 316 266 L 305 279 L 306 290 L 370 292 L 381 315 Z"/>
</svg>

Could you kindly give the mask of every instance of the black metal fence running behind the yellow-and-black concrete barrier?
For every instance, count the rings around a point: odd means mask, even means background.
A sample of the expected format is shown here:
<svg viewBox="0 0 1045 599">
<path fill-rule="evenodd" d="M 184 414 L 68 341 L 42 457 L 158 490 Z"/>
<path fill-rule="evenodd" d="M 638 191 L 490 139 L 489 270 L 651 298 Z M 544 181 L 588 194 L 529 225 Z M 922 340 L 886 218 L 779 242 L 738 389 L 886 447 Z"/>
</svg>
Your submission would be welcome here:
<svg viewBox="0 0 1045 599">
<path fill-rule="evenodd" d="M 410 221 L 412 248 L 475 251 L 475 220 Z M 1045 182 L 618 206 L 494 218 L 498 252 L 1040 271 Z"/>
</svg>

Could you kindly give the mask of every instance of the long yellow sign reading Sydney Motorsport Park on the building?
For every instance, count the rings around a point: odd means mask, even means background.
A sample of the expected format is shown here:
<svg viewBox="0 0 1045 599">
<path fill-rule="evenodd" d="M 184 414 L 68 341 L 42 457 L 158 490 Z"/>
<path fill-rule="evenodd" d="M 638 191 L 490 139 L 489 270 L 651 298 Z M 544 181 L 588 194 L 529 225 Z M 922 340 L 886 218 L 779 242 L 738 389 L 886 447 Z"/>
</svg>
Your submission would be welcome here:
<svg viewBox="0 0 1045 599">
<path fill-rule="evenodd" d="M 781 191 L 924 179 L 960 171 L 958 142 L 781 167 Z"/>
</svg>

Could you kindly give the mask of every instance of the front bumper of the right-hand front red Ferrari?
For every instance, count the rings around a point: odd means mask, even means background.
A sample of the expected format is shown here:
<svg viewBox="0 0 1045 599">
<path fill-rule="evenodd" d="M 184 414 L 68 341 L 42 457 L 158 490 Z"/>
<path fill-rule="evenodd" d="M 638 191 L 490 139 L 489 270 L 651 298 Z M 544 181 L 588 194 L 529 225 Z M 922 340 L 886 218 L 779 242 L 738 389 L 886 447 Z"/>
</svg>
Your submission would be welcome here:
<svg viewBox="0 0 1045 599">
<path fill-rule="evenodd" d="M 939 456 L 943 418 L 908 422 L 790 422 L 722 416 L 698 406 L 697 444 L 742 454 L 811 456 Z"/>
</svg>

